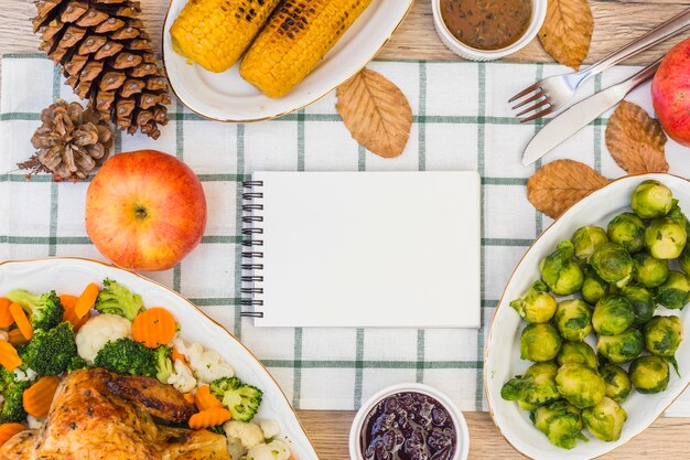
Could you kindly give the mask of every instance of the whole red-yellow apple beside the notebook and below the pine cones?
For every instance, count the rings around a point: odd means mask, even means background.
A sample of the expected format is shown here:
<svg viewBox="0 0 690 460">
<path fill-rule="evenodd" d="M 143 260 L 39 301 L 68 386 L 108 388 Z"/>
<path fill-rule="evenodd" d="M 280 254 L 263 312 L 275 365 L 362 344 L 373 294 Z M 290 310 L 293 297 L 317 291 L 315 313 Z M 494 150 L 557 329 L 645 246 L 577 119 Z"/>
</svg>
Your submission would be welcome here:
<svg viewBox="0 0 690 460">
<path fill-rule="evenodd" d="M 174 267 L 202 238 L 206 197 L 192 170 L 166 153 L 120 153 L 103 165 L 86 193 L 86 233 L 123 268 Z"/>
</svg>

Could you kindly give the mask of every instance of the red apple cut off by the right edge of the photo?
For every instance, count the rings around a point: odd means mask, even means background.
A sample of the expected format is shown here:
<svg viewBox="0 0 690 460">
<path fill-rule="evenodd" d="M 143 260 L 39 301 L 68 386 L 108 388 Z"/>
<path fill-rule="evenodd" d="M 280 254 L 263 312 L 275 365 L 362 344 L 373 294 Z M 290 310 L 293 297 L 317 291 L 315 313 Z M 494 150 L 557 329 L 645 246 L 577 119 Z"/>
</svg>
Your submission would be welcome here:
<svg viewBox="0 0 690 460">
<path fill-rule="evenodd" d="M 690 147 L 690 39 L 661 61 L 651 82 L 651 101 L 666 133 Z"/>
</svg>

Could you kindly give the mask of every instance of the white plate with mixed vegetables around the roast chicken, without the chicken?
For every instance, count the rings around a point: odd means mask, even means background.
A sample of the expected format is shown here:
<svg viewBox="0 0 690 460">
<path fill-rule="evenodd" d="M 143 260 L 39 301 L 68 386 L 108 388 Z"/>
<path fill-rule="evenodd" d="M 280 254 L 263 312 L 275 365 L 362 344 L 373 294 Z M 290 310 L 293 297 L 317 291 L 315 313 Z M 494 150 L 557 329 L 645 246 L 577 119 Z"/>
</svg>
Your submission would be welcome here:
<svg viewBox="0 0 690 460">
<path fill-rule="evenodd" d="M 0 446 L 46 422 L 60 382 L 105 368 L 155 378 L 196 406 L 183 428 L 231 459 L 316 460 L 261 363 L 187 300 L 136 274 L 55 258 L 0 265 Z"/>
</svg>

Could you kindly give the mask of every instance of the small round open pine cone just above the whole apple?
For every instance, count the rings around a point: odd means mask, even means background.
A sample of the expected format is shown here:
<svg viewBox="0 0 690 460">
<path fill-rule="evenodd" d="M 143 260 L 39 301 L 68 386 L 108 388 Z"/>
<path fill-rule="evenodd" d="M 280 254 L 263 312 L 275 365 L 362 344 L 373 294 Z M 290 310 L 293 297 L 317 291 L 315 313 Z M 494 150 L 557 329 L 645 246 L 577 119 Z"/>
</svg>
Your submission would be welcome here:
<svg viewBox="0 0 690 460">
<path fill-rule="evenodd" d="M 98 111 L 58 100 L 43 109 L 41 121 L 31 138 L 36 153 L 18 164 L 31 170 L 29 175 L 48 172 L 56 180 L 77 181 L 108 158 L 112 131 Z"/>
</svg>

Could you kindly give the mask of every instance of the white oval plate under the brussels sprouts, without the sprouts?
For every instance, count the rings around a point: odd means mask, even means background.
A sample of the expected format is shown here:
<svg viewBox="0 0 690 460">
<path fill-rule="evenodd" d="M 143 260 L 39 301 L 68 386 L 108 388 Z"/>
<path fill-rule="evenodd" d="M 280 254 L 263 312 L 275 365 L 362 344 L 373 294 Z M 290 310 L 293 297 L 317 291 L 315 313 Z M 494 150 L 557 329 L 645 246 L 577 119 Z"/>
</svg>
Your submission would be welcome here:
<svg viewBox="0 0 690 460">
<path fill-rule="evenodd" d="M 572 234 L 584 225 L 605 227 L 616 214 L 629 210 L 633 190 L 647 179 L 655 179 L 666 184 L 679 200 L 684 211 L 690 211 L 690 182 L 671 174 L 642 174 L 618 179 L 604 189 L 592 193 L 558 218 L 532 244 L 518 264 L 496 309 L 485 351 L 484 382 L 489 410 L 494 421 L 506 440 L 518 451 L 535 459 L 592 459 L 622 446 L 643 432 L 676 399 L 690 383 L 690 340 L 683 340 L 676 353 L 680 368 L 680 378 L 671 371 L 668 389 L 657 395 L 642 395 L 633 391 L 623 403 L 628 419 L 621 439 L 616 442 L 603 442 L 587 432 L 590 442 L 578 441 L 572 450 L 558 448 L 549 442 L 529 419 L 529 413 L 521 410 L 515 402 L 504 400 L 500 388 L 504 383 L 521 374 L 531 363 L 520 360 L 520 332 L 525 324 L 510 308 L 510 301 L 520 297 L 539 278 L 539 260 L 553 250 L 562 239 L 570 239 Z M 656 314 L 677 314 L 690 330 L 689 309 L 657 309 Z M 591 335 L 587 342 L 594 341 Z"/>
</svg>

